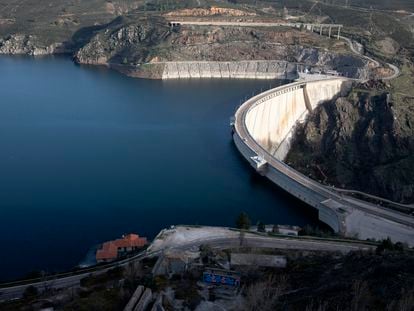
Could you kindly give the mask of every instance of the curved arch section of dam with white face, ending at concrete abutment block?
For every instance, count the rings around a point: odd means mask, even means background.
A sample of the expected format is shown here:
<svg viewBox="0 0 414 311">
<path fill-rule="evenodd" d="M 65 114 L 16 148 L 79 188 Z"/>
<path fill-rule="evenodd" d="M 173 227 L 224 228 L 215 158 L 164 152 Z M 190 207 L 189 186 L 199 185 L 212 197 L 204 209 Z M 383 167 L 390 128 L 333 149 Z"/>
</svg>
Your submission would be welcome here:
<svg viewBox="0 0 414 311">
<path fill-rule="evenodd" d="M 234 142 L 252 166 L 282 189 L 318 210 L 319 219 L 345 234 L 345 210 L 328 191 L 283 163 L 295 125 L 320 103 L 346 93 L 343 78 L 296 82 L 259 94 L 236 112 Z"/>
</svg>

